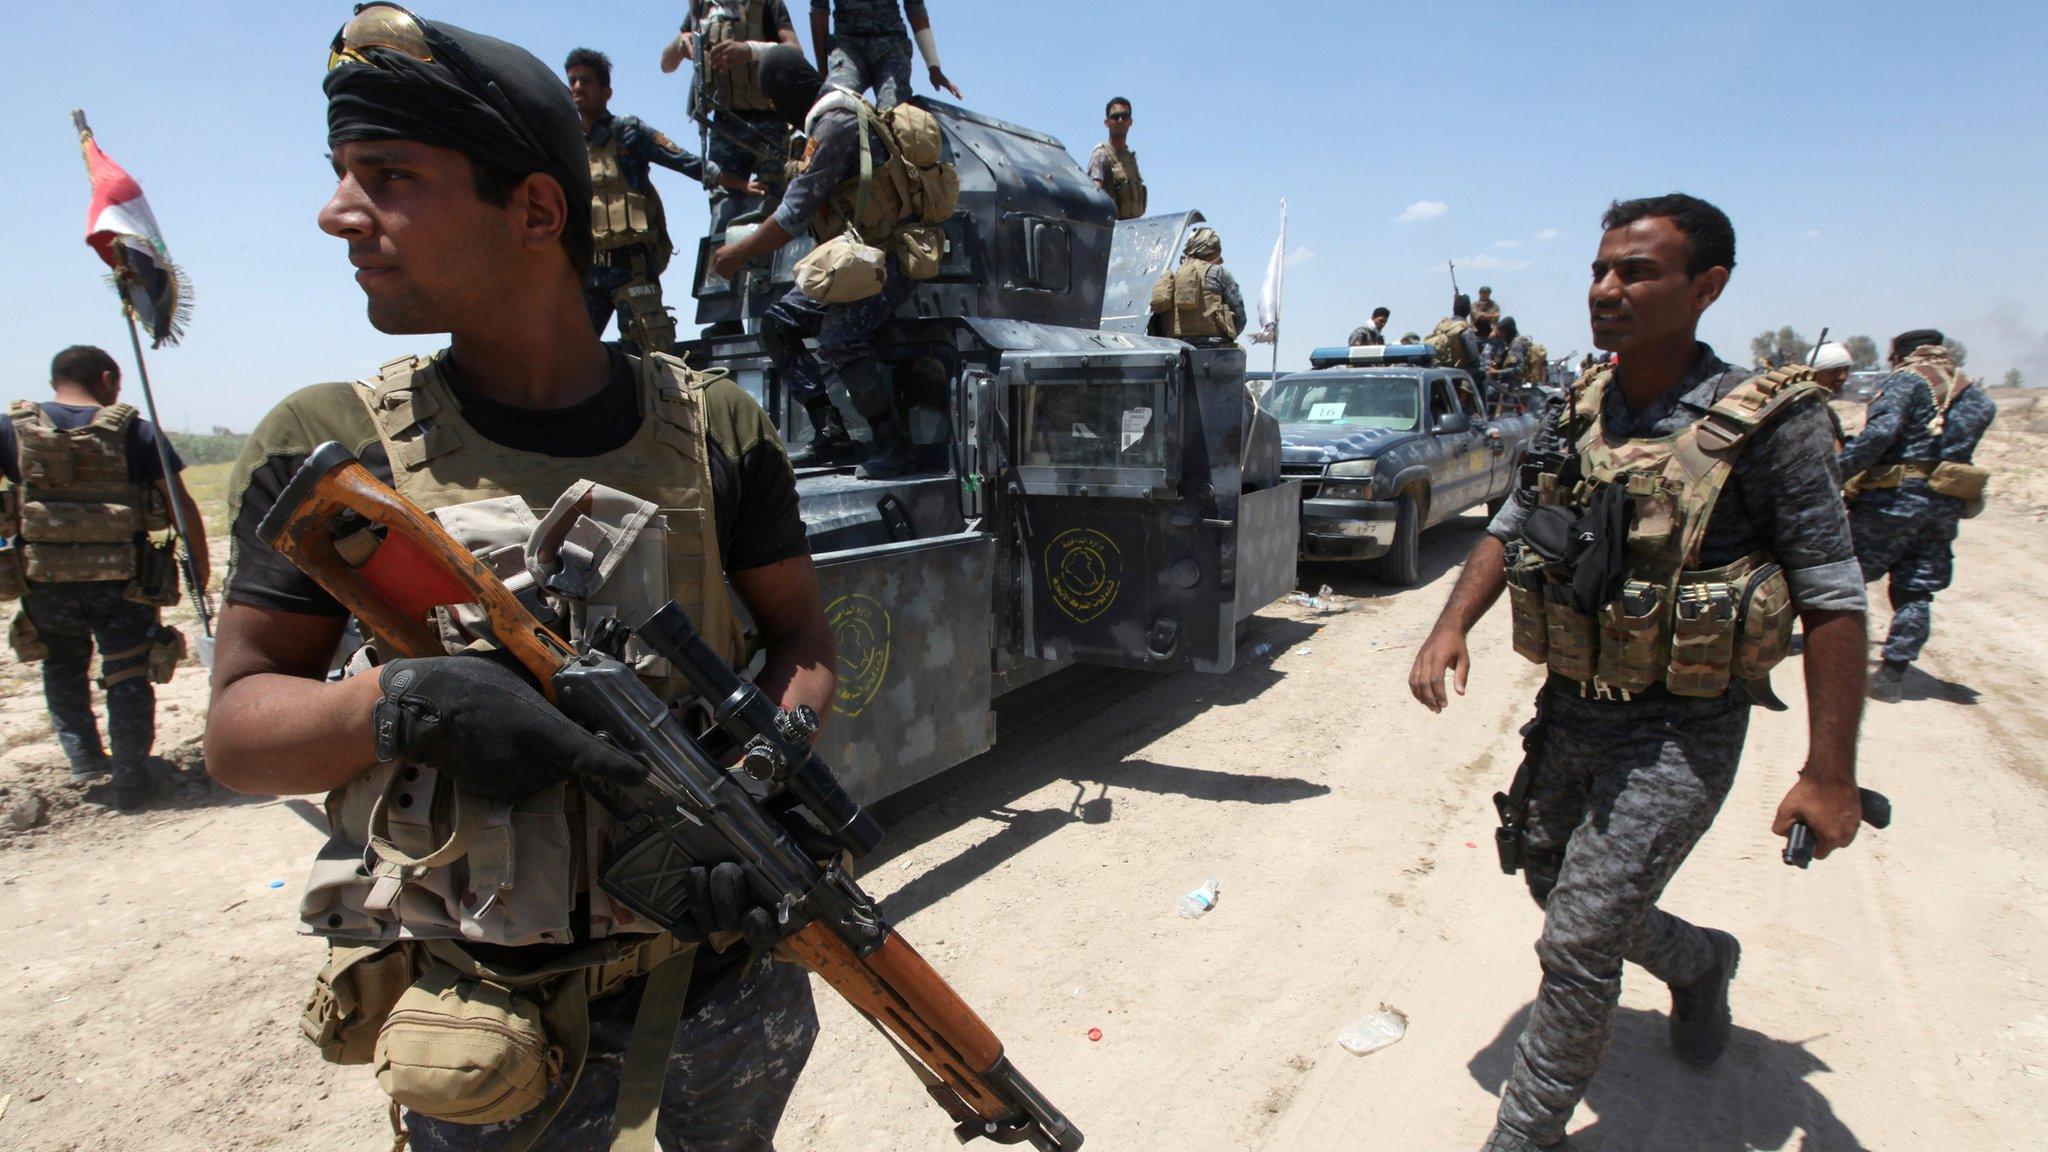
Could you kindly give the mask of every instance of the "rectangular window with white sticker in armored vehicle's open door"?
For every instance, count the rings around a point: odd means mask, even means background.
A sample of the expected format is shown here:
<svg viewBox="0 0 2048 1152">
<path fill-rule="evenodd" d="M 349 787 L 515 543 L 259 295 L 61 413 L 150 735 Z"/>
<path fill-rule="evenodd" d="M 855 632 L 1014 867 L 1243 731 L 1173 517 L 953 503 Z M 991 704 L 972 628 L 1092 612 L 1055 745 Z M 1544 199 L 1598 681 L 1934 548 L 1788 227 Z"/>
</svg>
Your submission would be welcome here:
<svg viewBox="0 0 2048 1152">
<path fill-rule="evenodd" d="M 1165 467 L 1165 381 L 1034 383 L 1024 389 L 1024 463 Z"/>
</svg>

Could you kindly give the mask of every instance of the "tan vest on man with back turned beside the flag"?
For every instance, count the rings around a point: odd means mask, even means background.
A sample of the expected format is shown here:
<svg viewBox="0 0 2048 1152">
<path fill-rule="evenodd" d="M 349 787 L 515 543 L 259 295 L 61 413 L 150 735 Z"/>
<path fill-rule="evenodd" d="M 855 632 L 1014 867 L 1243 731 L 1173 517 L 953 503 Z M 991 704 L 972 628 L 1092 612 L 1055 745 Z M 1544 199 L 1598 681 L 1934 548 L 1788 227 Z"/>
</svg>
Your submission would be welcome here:
<svg viewBox="0 0 2048 1152">
<path fill-rule="evenodd" d="M 143 533 L 170 527 L 156 490 L 129 478 L 131 404 L 92 414 L 82 428 L 57 428 L 43 406 L 8 408 L 20 445 L 20 564 L 29 580 L 78 584 L 133 580 Z"/>
</svg>

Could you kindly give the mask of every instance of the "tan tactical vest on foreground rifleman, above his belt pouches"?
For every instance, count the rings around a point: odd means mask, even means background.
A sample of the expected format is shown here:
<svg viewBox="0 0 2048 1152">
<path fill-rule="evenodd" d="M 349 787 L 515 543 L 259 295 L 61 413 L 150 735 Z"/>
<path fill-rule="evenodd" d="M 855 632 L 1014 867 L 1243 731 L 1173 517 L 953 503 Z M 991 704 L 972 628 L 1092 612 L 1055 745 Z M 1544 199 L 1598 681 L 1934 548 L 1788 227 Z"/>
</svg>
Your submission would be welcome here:
<svg viewBox="0 0 2048 1152">
<path fill-rule="evenodd" d="M 479 529 L 463 512 L 487 500 L 516 498 L 541 515 L 573 484 L 590 480 L 657 504 L 666 521 L 668 596 L 737 666 L 743 635 L 719 564 L 702 412 L 707 377 L 664 355 L 635 361 L 635 377 L 645 414 L 639 433 L 596 457 L 514 451 L 481 437 L 463 420 L 436 361 L 391 361 L 358 383 L 358 398 L 389 453 L 393 488 L 426 510 L 440 510 L 451 535 L 479 553 L 494 541 L 479 541 Z M 459 648 L 455 637 L 449 644 Z M 688 693 L 680 676 L 651 683 L 664 699 Z M 436 797 L 436 783 L 434 769 L 424 765 L 383 765 L 328 795 L 334 832 L 299 908 L 309 933 L 379 943 L 567 943 L 580 896 L 588 900 L 590 937 L 653 931 L 590 888 L 614 828 L 580 789 L 557 785 L 516 804 L 477 806 L 459 793 L 457 804 Z M 371 834 L 393 851 L 383 845 L 369 851 Z M 401 865 L 406 859 L 416 863 Z"/>
</svg>

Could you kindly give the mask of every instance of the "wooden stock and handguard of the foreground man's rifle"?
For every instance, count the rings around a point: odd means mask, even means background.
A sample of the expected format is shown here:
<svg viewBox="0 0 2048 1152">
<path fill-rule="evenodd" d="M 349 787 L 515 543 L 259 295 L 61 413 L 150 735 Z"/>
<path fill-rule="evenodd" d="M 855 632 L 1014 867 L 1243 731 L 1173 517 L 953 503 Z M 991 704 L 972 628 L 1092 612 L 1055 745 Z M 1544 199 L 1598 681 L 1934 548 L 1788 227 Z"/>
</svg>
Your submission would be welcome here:
<svg viewBox="0 0 2048 1152">
<path fill-rule="evenodd" d="M 430 615 L 451 605 L 479 605 L 498 644 L 551 701 L 553 678 L 580 658 L 440 523 L 338 443 L 305 459 L 258 535 L 354 613 L 387 658 L 444 654 Z M 788 947 L 893 1037 L 961 1140 L 1030 1142 L 1042 1152 L 1081 1146 L 1079 1129 L 1010 1066 L 989 1025 L 893 929 L 881 924 L 856 947 L 813 918 Z"/>
</svg>

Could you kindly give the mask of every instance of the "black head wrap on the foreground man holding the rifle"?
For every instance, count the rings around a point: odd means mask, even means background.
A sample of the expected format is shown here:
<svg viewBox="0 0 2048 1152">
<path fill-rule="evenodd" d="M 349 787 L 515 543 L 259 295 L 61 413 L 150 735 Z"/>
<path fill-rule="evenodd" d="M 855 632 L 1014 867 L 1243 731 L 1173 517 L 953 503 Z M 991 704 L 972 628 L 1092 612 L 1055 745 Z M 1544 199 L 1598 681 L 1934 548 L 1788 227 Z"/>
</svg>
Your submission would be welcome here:
<svg viewBox="0 0 2048 1152">
<path fill-rule="evenodd" d="M 416 16 L 418 18 L 418 16 Z M 487 168 L 553 176 L 590 203 L 590 154 L 569 88 L 530 51 L 455 25 L 420 20 L 432 64 L 371 47 L 371 64 L 328 72 L 328 146 L 414 139 Z"/>
</svg>

